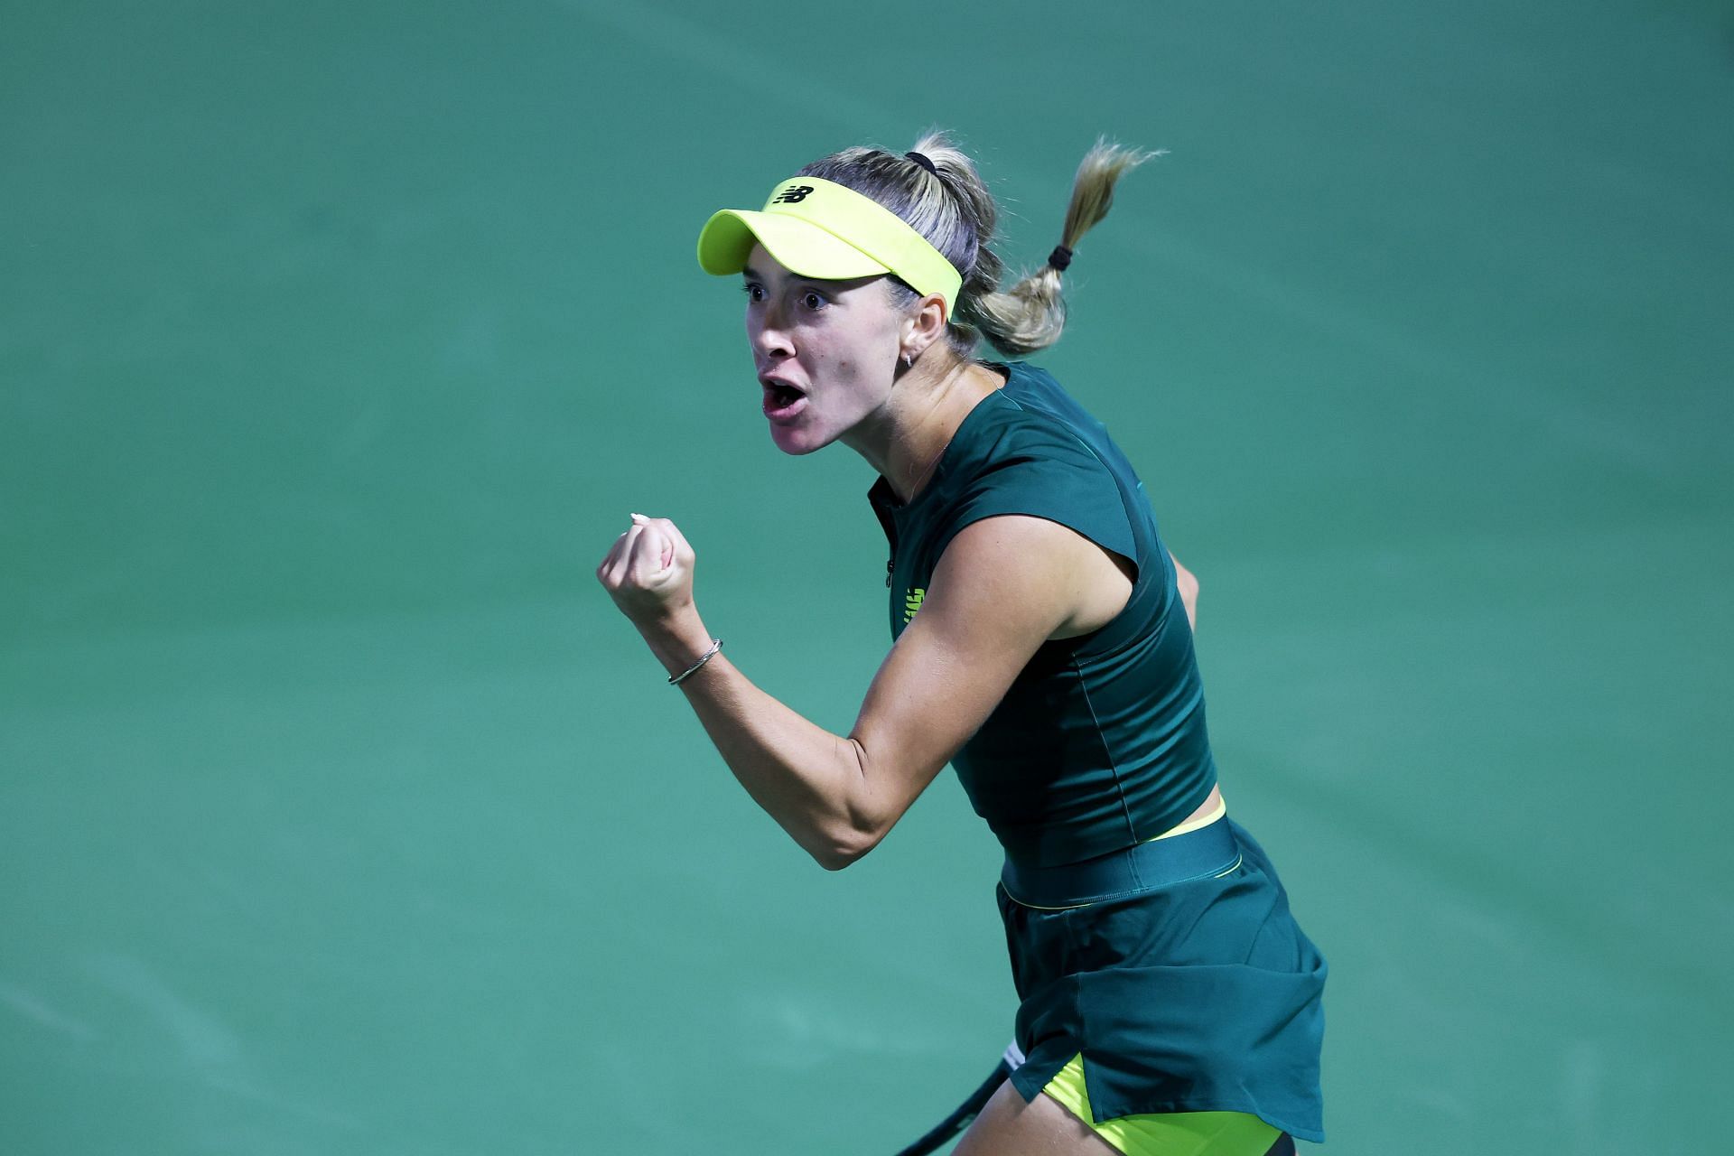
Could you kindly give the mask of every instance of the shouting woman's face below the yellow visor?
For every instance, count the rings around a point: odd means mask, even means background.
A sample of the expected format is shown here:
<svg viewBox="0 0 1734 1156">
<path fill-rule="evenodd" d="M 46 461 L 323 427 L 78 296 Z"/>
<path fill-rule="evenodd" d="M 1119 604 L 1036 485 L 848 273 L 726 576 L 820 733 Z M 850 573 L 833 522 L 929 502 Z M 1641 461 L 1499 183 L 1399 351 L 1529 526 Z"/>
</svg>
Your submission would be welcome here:
<svg viewBox="0 0 1734 1156">
<path fill-rule="evenodd" d="M 810 454 L 884 406 L 907 324 L 884 277 L 801 277 L 759 244 L 742 277 L 747 341 L 777 449 Z"/>
</svg>

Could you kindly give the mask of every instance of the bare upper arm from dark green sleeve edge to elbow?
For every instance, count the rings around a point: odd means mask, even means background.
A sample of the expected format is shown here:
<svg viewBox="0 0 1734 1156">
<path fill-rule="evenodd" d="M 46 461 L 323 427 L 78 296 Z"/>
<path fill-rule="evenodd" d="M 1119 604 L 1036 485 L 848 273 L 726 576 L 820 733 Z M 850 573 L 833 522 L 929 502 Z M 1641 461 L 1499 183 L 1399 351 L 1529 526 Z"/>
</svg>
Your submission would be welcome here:
<svg viewBox="0 0 1734 1156">
<path fill-rule="evenodd" d="M 1085 551 L 1096 546 L 1033 516 L 973 522 L 945 548 L 921 610 L 874 676 L 850 733 L 884 827 L 1073 617 Z"/>
</svg>

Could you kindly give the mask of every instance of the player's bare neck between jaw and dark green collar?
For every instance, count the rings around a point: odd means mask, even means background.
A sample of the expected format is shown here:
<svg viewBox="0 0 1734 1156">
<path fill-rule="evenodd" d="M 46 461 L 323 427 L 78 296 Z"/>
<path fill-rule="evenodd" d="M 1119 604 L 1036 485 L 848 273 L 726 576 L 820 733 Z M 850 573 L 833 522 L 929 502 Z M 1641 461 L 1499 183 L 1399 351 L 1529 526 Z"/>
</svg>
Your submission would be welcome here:
<svg viewBox="0 0 1734 1156">
<path fill-rule="evenodd" d="M 924 357 L 898 378 L 876 418 L 843 437 L 843 444 L 877 470 L 898 503 L 907 504 L 933 477 L 957 426 L 1002 381 L 971 360 L 933 364 Z"/>
</svg>

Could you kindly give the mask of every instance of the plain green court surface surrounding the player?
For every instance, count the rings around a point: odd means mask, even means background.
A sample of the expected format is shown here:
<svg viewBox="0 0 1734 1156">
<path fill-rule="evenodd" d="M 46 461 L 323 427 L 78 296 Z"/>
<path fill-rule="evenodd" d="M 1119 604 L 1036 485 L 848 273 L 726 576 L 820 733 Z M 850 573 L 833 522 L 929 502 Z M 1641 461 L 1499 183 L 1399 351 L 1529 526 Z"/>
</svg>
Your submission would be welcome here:
<svg viewBox="0 0 1734 1156">
<path fill-rule="evenodd" d="M 1332 1153 L 1684 1153 L 1734 997 L 1734 14 L 0 0 L 0 1153 L 890 1153 L 1009 1036 L 947 775 L 820 872 L 591 568 L 844 730 L 884 544 L 721 205 L 955 128 L 1203 582 Z"/>
</svg>

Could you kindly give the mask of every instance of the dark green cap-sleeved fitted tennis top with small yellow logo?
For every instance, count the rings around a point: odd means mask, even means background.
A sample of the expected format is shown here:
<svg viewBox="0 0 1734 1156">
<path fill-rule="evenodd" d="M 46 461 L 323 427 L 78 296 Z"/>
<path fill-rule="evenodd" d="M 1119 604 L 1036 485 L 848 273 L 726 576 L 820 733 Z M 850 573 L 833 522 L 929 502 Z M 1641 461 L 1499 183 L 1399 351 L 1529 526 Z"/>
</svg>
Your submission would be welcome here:
<svg viewBox="0 0 1734 1156">
<path fill-rule="evenodd" d="M 1108 626 L 1049 641 L 952 759 L 976 813 L 1020 863 L 1053 867 L 1153 839 L 1216 785 L 1203 685 L 1174 565 L 1131 463 L 1046 371 L 994 366 L 1006 386 L 957 428 L 926 489 L 869 492 L 891 541 L 891 636 L 914 620 L 952 537 L 1032 515 L 1138 567 Z"/>
</svg>

